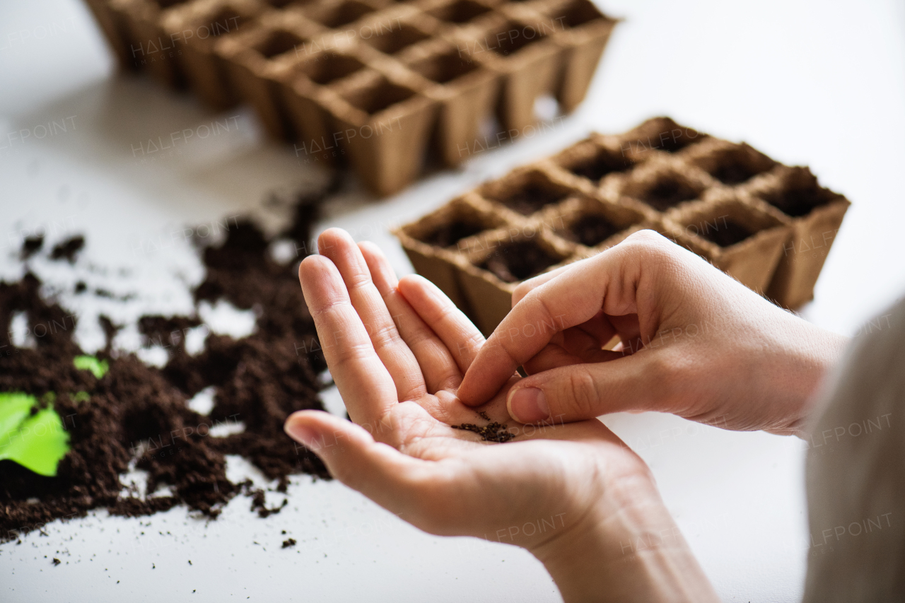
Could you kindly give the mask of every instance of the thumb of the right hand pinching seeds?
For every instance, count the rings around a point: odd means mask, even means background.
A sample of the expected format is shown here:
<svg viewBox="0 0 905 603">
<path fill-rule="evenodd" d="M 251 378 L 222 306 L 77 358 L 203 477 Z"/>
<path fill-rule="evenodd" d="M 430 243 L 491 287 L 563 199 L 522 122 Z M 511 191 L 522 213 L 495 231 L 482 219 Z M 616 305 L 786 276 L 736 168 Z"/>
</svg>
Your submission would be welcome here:
<svg viewBox="0 0 905 603">
<path fill-rule="evenodd" d="M 608 362 L 545 370 L 519 380 L 506 408 L 519 423 L 565 423 L 625 410 L 652 410 L 662 383 L 648 360 L 634 354 Z"/>
</svg>

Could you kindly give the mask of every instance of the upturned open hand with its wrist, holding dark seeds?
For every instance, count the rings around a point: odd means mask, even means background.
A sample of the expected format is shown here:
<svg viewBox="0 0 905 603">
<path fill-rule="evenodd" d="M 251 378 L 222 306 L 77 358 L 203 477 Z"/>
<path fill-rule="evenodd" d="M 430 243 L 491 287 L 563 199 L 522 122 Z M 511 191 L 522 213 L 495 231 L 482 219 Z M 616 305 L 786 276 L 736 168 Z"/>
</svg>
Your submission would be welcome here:
<svg viewBox="0 0 905 603">
<path fill-rule="evenodd" d="M 602 423 L 510 426 L 505 445 L 453 429 L 478 410 L 509 420 L 506 387 L 479 408 L 456 397 L 480 332 L 429 282 L 397 282 L 373 244 L 332 229 L 319 250 L 302 290 L 359 425 L 301 411 L 286 431 L 330 474 L 424 531 L 530 550 L 569 601 L 715 600 L 647 467 Z"/>
</svg>

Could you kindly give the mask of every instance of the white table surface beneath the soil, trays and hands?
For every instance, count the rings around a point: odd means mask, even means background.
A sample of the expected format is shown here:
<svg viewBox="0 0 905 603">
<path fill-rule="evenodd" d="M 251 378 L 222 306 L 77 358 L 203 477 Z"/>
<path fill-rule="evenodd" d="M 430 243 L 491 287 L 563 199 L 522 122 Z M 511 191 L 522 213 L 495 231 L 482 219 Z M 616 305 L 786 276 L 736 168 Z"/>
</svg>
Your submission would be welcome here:
<svg viewBox="0 0 905 603">
<path fill-rule="evenodd" d="M 408 273 L 387 225 L 591 129 L 623 131 L 668 114 L 746 140 L 783 162 L 810 165 L 852 200 L 816 299 L 803 311 L 807 320 L 851 334 L 905 290 L 901 3 L 609 0 L 605 10 L 626 21 L 587 101 L 553 131 L 386 200 L 353 190 L 329 208 L 322 227 L 343 226 L 375 241 L 399 273 Z M 214 119 L 229 119 L 234 128 L 195 138 L 172 156 L 142 160 L 133 150 Z M 54 120 L 71 127 L 38 138 L 39 126 Z M 23 139 L 15 134 L 20 130 L 33 135 Z M 88 246 L 75 270 L 42 259 L 33 270 L 70 292 L 78 275 L 90 286 L 139 296 L 118 304 L 61 292 L 64 305 L 83 316 L 106 311 L 115 320 L 188 311 L 186 283 L 197 282 L 202 269 L 174 231 L 249 211 L 276 224 L 262 207 L 264 194 L 317 177 L 317 168 L 300 165 L 291 148 L 265 140 L 249 110 L 214 116 L 147 78 L 118 76 L 80 2 L 0 3 L 0 278 L 21 275 L 14 254 L 25 234 L 43 231 L 53 244 L 80 232 Z M 102 273 L 99 266 L 129 273 Z M 98 347 L 100 331 L 88 319 L 82 323 L 83 347 Z M 128 347 L 136 340 L 132 329 L 119 342 Z M 327 397 L 339 412 L 335 390 Z M 803 443 L 656 414 L 605 422 L 651 464 L 724 600 L 800 598 L 808 552 Z M 250 471 L 231 459 L 231 474 Z M 295 477 L 289 506 L 266 520 L 248 505 L 235 499 L 215 522 L 195 520 L 183 508 L 142 519 L 97 512 L 55 522 L 46 536 L 33 532 L 22 544 L 0 545 L 0 600 L 558 599 L 526 552 L 425 535 L 339 483 Z M 281 550 L 290 536 L 299 544 Z M 53 557 L 62 564 L 53 567 Z"/>
</svg>

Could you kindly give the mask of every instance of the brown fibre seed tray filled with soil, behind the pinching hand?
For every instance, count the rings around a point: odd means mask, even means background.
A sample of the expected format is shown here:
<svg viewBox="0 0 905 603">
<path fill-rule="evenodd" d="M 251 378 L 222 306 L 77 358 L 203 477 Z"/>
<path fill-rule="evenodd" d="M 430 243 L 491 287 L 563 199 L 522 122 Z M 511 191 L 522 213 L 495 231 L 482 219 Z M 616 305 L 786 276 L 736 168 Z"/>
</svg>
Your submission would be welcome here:
<svg viewBox="0 0 905 603">
<path fill-rule="evenodd" d="M 414 269 L 486 335 L 519 282 L 643 228 L 798 308 L 814 297 L 849 205 L 808 168 L 654 118 L 485 182 L 395 235 Z"/>
</svg>

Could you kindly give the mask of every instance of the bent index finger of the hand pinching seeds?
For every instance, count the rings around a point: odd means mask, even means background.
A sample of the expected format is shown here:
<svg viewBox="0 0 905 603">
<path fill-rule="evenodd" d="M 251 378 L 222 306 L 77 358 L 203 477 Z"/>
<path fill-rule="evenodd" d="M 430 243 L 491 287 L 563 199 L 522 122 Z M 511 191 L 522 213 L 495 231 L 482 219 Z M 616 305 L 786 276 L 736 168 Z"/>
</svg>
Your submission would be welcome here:
<svg viewBox="0 0 905 603">
<path fill-rule="evenodd" d="M 638 256 L 649 247 L 636 243 L 651 242 L 652 238 L 650 234 L 632 235 L 533 288 L 493 330 L 478 352 L 462 378 L 459 399 L 470 406 L 482 404 L 506 383 L 515 369 L 544 349 L 557 332 L 591 320 L 601 309 L 609 315 L 643 315 L 642 334 L 653 336 L 656 331 L 655 325 L 651 330 L 653 307 L 639 313 L 636 299 L 642 279 L 652 279 L 653 271 L 644 271 L 643 264 L 657 265 L 639 260 Z M 653 283 L 644 289 L 652 291 Z M 654 300 L 644 302 L 653 305 Z"/>
</svg>

